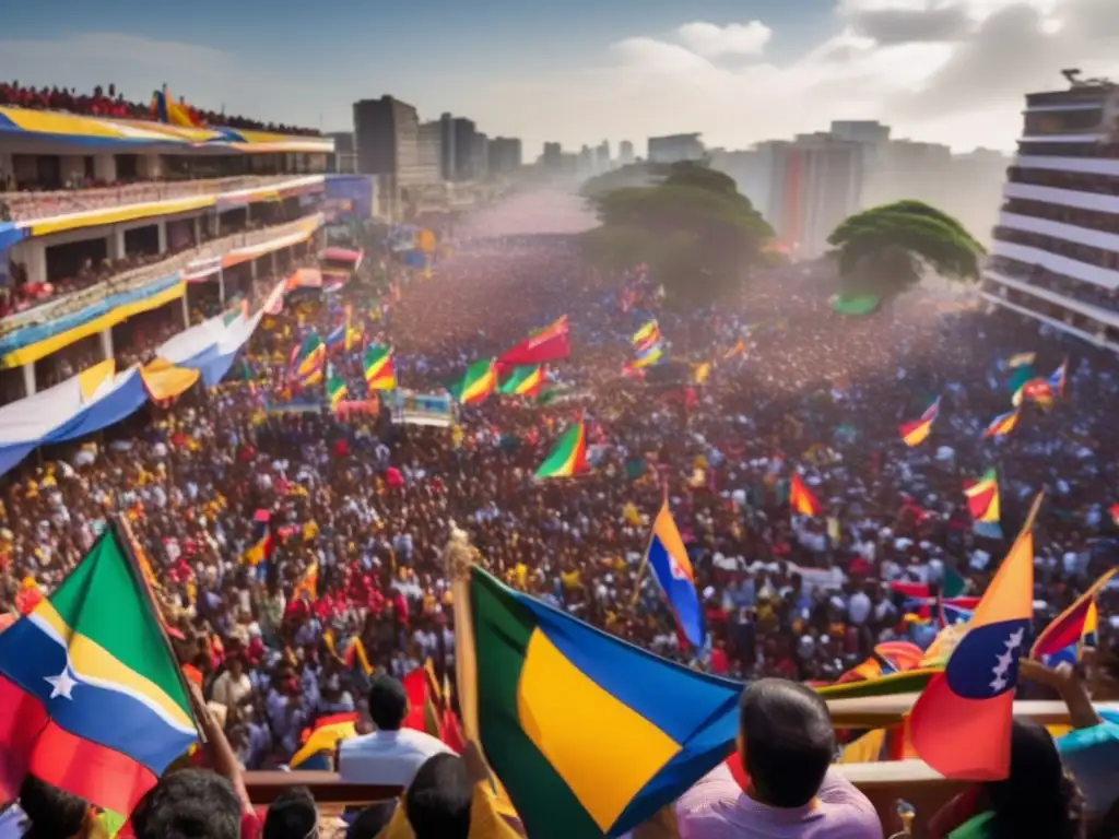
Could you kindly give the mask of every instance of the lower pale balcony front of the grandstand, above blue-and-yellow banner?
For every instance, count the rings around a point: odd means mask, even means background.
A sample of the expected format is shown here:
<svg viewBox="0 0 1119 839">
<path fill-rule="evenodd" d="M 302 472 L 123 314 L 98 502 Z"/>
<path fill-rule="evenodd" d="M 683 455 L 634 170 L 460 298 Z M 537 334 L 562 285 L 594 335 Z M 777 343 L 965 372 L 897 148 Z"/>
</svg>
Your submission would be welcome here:
<svg viewBox="0 0 1119 839">
<path fill-rule="evenodd" d="M 126 270 L 110 277 L 94 276 L 92 282 L 69 293 L 53 298 L 30 309 L 17 312 L 0 320 L 0 336 L 7 336 L 16 330 L 34 327 L 81 312 L 112 294 L 137 291 L 163 277 L 169 277 L 186 270 L 191 263 L 215 260 L 231 252 L 258 246 L 267 242 L 285 239 L 309 233 L 321 223 L 321 216 L 298 219 L 274 227 L 264 227 L 233 236 L 211 239 L 197 247 L 181 251 L 171 256 L 163 256 L 139 267 Z"/>
</svg>

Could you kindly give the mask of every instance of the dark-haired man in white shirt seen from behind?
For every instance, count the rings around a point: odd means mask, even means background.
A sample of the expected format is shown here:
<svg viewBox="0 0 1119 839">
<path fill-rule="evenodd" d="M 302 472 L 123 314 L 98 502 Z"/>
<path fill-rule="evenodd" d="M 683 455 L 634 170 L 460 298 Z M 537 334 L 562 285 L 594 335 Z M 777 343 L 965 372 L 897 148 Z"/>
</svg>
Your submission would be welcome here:
<svg viewBox="0 0 1119 839">
<path fill-rule="evenodd" d="M 338 747 L 342 783 L 407 786 L 429 757 L 451 751 L 430 734 L 401 728 L 407 714 L 408 695 L 399 679 L 378 676 L 369 689 L 369 717 L 377 730 Z"/>
</svg>

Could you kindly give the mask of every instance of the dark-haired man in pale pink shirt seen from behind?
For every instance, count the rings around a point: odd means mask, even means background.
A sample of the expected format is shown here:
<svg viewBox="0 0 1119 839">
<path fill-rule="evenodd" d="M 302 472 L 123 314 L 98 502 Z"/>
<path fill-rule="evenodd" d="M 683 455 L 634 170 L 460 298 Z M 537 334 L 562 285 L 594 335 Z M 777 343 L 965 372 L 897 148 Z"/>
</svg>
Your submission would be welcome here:
<svg viewBox="0 0 1119 839">
<path fill-rule="evenodd" d="M 726 764 L 708 773 L 676 802 L 680 839 L 881 839 L 869 800 L 828 771 L 835 730 L 814 690 L 782 679 L 751 682 L 737 739 L 745 790 Z"/>
</svg>

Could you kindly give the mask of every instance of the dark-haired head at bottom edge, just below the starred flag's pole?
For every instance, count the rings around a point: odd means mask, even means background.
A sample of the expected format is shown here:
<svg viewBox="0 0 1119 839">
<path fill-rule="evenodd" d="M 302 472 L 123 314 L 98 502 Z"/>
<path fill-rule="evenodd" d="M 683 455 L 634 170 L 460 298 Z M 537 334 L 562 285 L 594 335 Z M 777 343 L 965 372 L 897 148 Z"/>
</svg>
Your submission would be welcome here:
<svg viewBox="0 0 1119 839">
<path fill-rule="evenodd" d="M 180 770 L 163 775 L 132 812 L 135 839 L 239 839 L 241 801 L 214 772 Z"/>
</svg>

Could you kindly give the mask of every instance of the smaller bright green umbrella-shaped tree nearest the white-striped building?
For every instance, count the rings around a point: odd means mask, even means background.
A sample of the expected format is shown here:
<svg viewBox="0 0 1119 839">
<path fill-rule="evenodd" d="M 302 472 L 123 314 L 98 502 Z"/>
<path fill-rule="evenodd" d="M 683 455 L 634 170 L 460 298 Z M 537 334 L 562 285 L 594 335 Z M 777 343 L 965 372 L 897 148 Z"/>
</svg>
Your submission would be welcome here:
<svg viewBox="0 0 1119 839">
<path fill-rule="evenodd" d="M 838 258 L 844 294 L 884 300 L 909 291 L 928 271 L 977 282 L 985 253 L 963 225 L 921 201 L 856 213 L 833 230 L 828 243 Z"/>
</svg>

